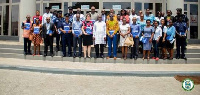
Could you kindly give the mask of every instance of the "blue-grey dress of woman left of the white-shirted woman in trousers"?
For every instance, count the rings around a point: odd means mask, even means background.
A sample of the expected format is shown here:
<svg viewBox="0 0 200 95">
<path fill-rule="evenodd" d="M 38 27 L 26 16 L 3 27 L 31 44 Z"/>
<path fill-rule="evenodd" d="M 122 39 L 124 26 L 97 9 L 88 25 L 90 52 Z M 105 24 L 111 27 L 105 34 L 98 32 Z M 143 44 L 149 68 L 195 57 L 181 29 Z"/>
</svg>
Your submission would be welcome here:
<svg viewBox="0 0 200 95">
<path fill-rule="evenodd" d="M 151 39 L 153 31 L 154 29 L 152 26 L 144 27 L 144 38 L 146 38 L 146 43 L 143 43 L 143 50 L 151 50 L 152 43 L 150 43 L 149 40 Z"/>
</svg>

